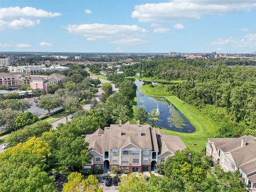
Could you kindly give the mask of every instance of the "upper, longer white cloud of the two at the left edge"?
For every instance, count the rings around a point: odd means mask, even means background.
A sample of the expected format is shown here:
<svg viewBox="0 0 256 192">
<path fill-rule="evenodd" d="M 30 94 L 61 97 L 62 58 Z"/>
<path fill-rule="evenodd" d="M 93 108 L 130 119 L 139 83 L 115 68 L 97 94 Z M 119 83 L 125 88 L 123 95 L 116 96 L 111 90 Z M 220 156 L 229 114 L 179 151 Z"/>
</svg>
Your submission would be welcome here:
<svg viewBox="0 0 256 192">
<path fill-rule="evenodd" d="M 13 19 L 13 18 L 49 18 L 58 17 L 60 13 L 47 12 L 34 7 L 5 7 L 0 8 L 0 19 Z"/>
</svg>

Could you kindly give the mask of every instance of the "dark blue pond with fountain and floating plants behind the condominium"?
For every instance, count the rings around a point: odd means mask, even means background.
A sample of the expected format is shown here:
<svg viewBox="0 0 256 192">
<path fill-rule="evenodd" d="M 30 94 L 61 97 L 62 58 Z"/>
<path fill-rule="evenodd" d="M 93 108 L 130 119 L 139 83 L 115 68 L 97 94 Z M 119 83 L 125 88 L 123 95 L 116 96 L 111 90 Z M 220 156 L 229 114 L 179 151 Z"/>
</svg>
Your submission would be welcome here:
<svg viewBox="0 0 256 192">
<path fill-rule="evenodd" d="M 157 109 L 158 107 L 158 118 L 161 119 L 161 121 L 156 122 L 156 126 L 163 127 L 167 130 L 184 133 L 190 133 L 195 131 L 195 127 L 191 125 L 188 119 L 184 115 L 182 115 L 180 111 L 172 105 L 172 103 L 164 98 L 154 98 L 143 94 L 140 91 L 140 86 L 144 85 L 143 81 L 135 79 L 135 84 L 137 85 L 137 108 L 143 106 L 149 113 L 151 110 Z M 150 124 L 149 121 L 147 123 Z"/>
</svg>

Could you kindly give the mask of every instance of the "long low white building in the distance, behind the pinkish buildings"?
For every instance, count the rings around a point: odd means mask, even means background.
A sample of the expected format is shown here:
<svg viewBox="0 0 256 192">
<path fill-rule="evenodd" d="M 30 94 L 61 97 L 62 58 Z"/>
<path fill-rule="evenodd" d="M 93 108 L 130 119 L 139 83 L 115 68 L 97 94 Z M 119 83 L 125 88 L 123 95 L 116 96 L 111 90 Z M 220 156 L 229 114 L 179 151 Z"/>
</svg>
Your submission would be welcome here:
<svg viewBox="0 0 256 192">
<path fill-rule="evenodd" d="M 10 73 L 25 73 L 29 75 L 35 75 L 42 71 L 53 72 L 53 71 L 65 71 L 68 69 L 69 69 L 68 67 L 63 67 L 60 65 L 52 65 L 50 67 L 46 67 L 45 65 L 8 67 L 8 70 L 10 71 Z"/>
</svg>

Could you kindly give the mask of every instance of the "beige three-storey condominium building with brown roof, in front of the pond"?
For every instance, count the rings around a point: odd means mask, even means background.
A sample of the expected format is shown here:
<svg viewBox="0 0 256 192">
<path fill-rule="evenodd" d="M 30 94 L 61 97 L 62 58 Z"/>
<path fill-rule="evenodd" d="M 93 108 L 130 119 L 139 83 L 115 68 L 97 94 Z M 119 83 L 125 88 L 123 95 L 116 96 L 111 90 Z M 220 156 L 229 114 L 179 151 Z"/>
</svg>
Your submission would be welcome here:
<svg viewBox="0 0 256 192">
<path fill-rule="evenodd" d="M 186 148 L 180 137 L 141 125 L 139 121 L 135 125 L 120 121 L 83 137 L 89 142 L 92 155 L 91 163 L 84 169 L 90 170 L 101 166 L 109 171 L 116 166 L 121 172 L 156 171 L 157 164 Z"/>
</svg>

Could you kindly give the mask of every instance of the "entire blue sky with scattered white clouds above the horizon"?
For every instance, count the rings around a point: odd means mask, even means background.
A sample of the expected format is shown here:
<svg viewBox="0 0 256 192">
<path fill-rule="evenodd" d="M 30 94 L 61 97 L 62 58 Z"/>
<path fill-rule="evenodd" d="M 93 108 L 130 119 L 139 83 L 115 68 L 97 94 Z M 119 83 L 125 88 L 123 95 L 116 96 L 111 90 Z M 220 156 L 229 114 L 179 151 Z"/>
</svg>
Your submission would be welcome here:
<svg viewBox="0 0 256 192">
<path fill-rule="evenodd" d="M 0 6 L 1 51 L 256 51 L 256 0 L 2 0 Z"/>
</svg>

